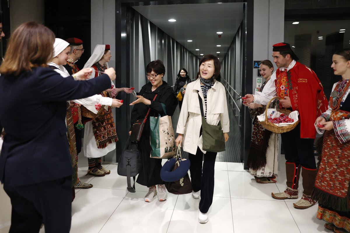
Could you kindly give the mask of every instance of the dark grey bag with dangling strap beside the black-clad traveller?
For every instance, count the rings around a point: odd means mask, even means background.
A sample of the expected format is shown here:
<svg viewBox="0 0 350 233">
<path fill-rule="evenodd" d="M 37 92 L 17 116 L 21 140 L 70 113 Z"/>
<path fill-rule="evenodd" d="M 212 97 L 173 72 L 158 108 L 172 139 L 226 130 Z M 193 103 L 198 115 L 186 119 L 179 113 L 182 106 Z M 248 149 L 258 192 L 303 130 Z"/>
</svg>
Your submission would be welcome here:
<svg viewBox="0 0 350 233">
<path fill-rule="evenodd" d="M 123 153 L 118 160 L 118 175 L 126 176 L 128 184 L 127 190 L 135 192 L 135 176 L 140 173 L 142 166 L 141 158 L 137 148 L 137 143 L 132 143 L 128 139 L 126 141 Z M 134 185 L 131 187 L 131 177 L 133 177 Z"/>
</svg>

